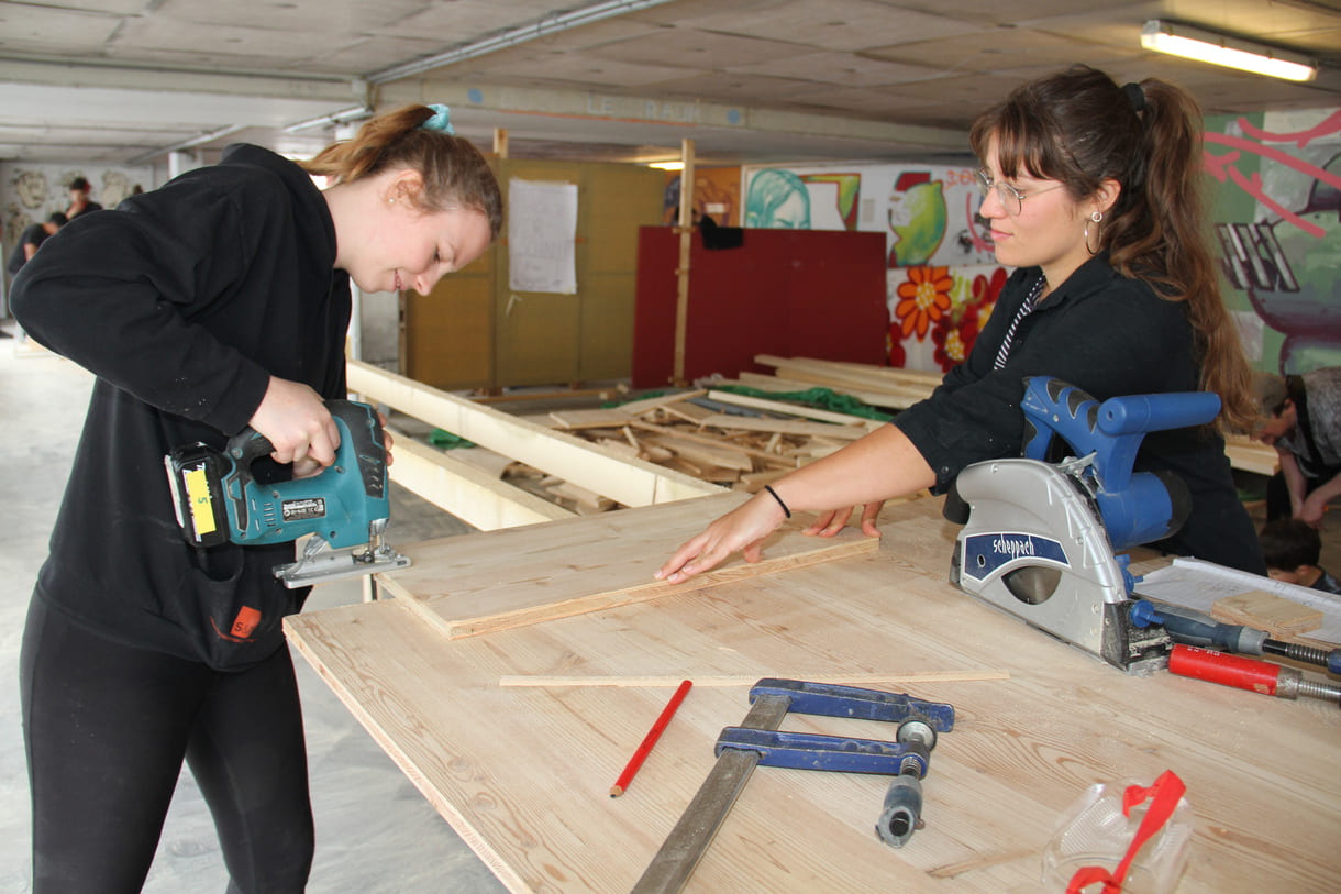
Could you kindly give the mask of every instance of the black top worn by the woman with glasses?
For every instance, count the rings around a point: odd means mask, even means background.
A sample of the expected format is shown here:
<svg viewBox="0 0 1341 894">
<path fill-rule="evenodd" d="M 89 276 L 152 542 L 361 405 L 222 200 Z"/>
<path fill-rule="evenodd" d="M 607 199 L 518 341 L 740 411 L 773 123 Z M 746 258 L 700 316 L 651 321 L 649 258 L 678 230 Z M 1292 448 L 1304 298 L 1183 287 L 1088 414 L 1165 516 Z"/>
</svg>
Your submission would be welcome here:
<svg viewBox="0 0 1341 894">
<path fill-rule="evenodd" d="M 936 473 L 937 493 L 970 463 L 1019 455 L 1019 404 L 1029 376 L 1061 379 L 1100 401 L 1200 389 L 1185 305 L 1122 277 L 1106 255 L 1082 264 L 1021 321 L 1006 365 L 994 370 L 1010 324 L 1041 275 L 1038 267 L 1016 270 L 968 358 L 931 397 L 894 417 Z M 1183 529 L 1155 546 L 1266 573 L 1219 435 L 1200 427 L 1152 432 L 1141 442 L 1136 467 L 1169 470 L 1192 494 Z"/>
</svg>

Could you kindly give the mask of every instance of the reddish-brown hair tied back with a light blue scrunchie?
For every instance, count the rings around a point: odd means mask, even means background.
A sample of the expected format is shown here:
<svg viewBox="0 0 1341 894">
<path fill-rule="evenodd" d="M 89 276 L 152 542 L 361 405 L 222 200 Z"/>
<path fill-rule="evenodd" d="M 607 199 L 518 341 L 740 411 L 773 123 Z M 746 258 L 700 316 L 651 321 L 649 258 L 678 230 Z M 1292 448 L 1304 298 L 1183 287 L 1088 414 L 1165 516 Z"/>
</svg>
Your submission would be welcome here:
<svg viewBox="0 0 1341 894">
<path fill-rule="evenodd" d="M 424 189 L 412 200 L 426 213 L 475 208 L 489 220 L 489 235 L 503 230 L 503 195 L 488 161 L 468 140 L 421 128 L 432 118 L 428 106 L 404 106 L 371 118 L 353 140 L 333 142 L 310 161 L 310 175 L 353 183 L 388 168 L 410 168 L 424 177 Z"/>
</svg>

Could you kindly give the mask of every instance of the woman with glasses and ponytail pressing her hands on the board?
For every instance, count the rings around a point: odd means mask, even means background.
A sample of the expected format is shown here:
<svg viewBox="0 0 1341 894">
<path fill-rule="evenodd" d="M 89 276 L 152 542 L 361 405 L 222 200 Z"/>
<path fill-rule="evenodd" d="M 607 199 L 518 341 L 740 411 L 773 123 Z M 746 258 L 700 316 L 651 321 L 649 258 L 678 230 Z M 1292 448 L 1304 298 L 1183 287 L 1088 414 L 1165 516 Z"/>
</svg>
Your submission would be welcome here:
<svg viewBox="0 0 1341 894">
<path fill-rule="evenodd" d="M 996 259 L 1015 268 L 968 358 L 892 424 L 791 473 L 712 522 L 657 570 L 677 583 L 744 552 L 794 510 L 833 536 L 862 506 L 878 537 L 884 501 L 944 493 L 968 464 L 1018 456 L 1025 379 L 1059 379 L 1097 400 L 1210 391 L 1219 428 L 1252 424 L 1251 372 L 1204 238 L 1202 117 L 1183 90 L 1120 87 L 1077 66 L 1018 87 L 970 140 L 982 160 L 979 211 Z M 1211 427 L 1147 435 L 1137 468 L 1171 471 L 1191 517 L 1155 544 L 1265 575 L 1224 442 Z"/>
</svg>

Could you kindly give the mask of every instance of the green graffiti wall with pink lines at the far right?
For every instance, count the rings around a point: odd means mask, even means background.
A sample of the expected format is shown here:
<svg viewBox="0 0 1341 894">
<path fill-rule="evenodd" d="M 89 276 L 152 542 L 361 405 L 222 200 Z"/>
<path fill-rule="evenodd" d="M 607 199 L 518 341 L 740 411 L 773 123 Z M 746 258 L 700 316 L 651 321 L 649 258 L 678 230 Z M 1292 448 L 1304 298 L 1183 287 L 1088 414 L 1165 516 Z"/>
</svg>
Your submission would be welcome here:
<svg viewBox="0 0 1341 894">
<path fill-rule="evenodd" d="M 1206 170 L 1226 295 L 1254 364 L 1341 365 L 1341 109 L 1210 118 Z"/>
</svg>

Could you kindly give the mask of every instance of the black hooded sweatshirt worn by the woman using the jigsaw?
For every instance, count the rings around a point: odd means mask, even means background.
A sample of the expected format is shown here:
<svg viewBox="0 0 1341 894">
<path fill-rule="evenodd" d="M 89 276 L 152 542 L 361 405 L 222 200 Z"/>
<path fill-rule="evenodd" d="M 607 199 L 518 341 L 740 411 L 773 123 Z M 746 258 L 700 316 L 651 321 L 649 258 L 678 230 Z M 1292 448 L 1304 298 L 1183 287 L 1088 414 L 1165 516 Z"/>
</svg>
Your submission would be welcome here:
<svg viewBox="0 0 1341 894">
<path fill-rule="evenodd" d="M 13 282 L 40 344 L 97 375 L 36 596 L 130 646 L 243 668 L 283 643 L 306 589 L 271 569 L 292 544 L 197 549 L 164 470 L 223 447 L 271 376 L 345 397 L 349 277 L 326 199 L 294 162 L 229 146 L 115 211 L 71 220 Z M 268 459 L 257 475 L 283 477 Z"/>
</svg>

